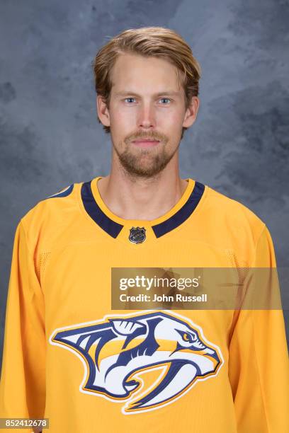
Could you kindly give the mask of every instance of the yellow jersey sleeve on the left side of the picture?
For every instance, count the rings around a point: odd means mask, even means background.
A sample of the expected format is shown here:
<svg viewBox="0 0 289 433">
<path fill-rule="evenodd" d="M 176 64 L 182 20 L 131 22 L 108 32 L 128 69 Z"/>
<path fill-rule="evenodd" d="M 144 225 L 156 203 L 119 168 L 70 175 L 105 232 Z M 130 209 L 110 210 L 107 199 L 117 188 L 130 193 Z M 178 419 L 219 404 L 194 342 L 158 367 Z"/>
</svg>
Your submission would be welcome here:
<svg viewBox="0 0 289 433">
<path fill-rule="evenodd" d="M 45 314 L 21 220 L 13 243 L 0 381 L 0 417 L 42 418 L 45 410 Z M 33 429 L 21 429 L 32 432 Z M 2 430 L 1 430 L 2 431 Z M 4 429 L 3 431 L 11 431 Z M 17 430 L 19 431 L 19 429 Z"/>
</svg>

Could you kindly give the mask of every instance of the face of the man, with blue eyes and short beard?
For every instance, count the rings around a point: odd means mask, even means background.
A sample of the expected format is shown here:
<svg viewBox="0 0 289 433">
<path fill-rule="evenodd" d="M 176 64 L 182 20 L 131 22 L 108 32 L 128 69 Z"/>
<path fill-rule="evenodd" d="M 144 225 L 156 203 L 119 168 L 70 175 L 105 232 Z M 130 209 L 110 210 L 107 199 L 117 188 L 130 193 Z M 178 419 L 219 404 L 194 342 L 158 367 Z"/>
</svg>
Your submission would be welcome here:
<svg viewBox="0 0 289 433">
<path fill-rule="evenodd" d="M 137 54 L 120 54 L 111 70 L 109 108 L 102 105 L 100 118 L 111 127 L 113 150 L 131 175 L 162 171 L 179 148 L 183 126 L 192 123 L 185 120 L 191 112 L 176 71 L 165 59 Z"/>
</svg>

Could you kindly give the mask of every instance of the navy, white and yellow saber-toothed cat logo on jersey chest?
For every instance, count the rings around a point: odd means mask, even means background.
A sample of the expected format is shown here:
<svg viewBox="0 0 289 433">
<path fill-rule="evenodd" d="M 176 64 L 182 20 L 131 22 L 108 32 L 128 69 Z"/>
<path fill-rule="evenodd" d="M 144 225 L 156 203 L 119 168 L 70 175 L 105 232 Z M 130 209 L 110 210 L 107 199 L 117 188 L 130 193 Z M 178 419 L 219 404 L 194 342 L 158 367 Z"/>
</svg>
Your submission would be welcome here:
<svg viewBox="0 0 289 433">
<path fill-rule="evenodd" d="M 216 376 L 220 348 L 177 313 L 137 312 L 55 330 L 52 345 L 77 354 L 84 364 L 79 390 L 125 403 L 125 415 L 162 408 L 197 382 Z"/>
</svg>

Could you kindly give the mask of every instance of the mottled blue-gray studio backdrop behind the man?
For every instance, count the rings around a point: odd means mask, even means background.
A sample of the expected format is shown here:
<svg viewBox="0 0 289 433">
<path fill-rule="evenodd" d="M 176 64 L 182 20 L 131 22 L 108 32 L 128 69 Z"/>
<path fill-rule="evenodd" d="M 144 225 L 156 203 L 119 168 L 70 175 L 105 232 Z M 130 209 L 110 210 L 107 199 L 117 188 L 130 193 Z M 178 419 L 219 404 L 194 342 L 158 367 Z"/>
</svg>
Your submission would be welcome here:
<svg viewBox="0 0 289 433">
<path fill-rule="evenodd" d="M 288 266 L 288 11 L 286 0 L 0 0 L 0 359 L 19 219 L 62 187 L 108 174 L 91 62 L 125 28 L 164 25 L 191 45 L 201 103 L 181 142 L 181 177 L 249 207 Z"/>
</svg>

